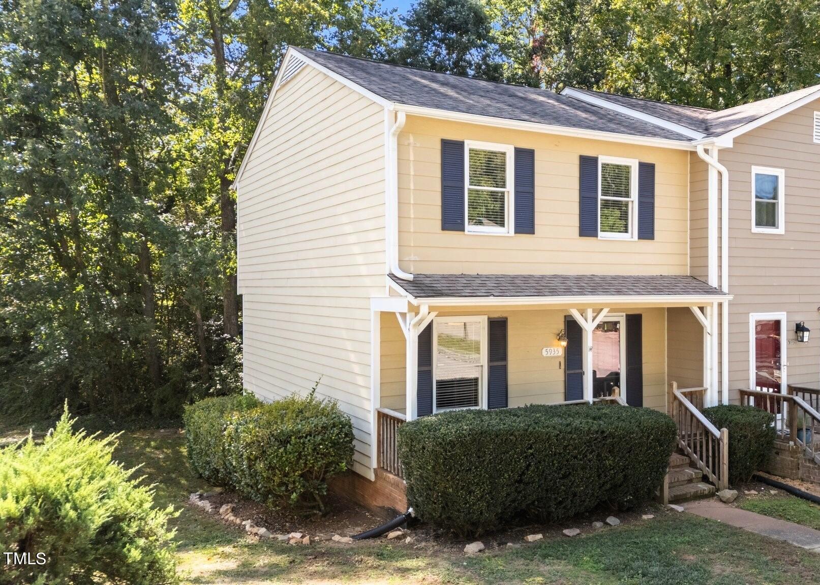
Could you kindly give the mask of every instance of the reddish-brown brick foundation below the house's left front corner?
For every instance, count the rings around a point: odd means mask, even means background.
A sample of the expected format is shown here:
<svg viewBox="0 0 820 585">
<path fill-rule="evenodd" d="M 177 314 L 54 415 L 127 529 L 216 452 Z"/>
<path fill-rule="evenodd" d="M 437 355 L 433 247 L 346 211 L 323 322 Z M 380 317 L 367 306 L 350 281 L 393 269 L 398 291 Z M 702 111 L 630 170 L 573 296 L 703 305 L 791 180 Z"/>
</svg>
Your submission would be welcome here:
<svg viewBox="0 0 820 585">
<path fill-rule="evenodd" d="M 403 480 L 384 469 L 373 471 L 375 481 L 348 471 L 333 478 L 329 488 L 385 518 L 393 518 L 407 511 L 408 499 Z"/>
</svg>

